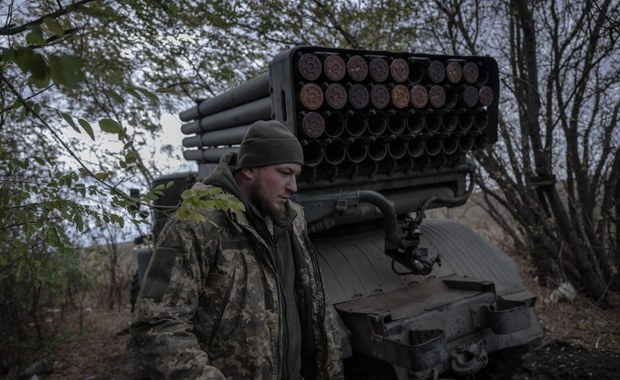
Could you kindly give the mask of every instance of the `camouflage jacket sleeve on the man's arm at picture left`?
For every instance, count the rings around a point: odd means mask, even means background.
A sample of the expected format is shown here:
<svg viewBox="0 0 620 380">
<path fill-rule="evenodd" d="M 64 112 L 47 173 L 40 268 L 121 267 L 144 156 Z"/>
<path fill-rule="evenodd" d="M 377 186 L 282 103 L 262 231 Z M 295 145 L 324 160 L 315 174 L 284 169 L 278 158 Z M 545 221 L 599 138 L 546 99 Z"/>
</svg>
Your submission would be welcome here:
<svg viewBox="0 0 620 380">
<path fill-rule="evenodd" d="M 166 224 L 136 303 L 130 331 L 153 379 L 225 378 L 192 333 L 208 251 L 217 247 L 200 239 L 198 228 L 178 220 Z"/>
</svg>

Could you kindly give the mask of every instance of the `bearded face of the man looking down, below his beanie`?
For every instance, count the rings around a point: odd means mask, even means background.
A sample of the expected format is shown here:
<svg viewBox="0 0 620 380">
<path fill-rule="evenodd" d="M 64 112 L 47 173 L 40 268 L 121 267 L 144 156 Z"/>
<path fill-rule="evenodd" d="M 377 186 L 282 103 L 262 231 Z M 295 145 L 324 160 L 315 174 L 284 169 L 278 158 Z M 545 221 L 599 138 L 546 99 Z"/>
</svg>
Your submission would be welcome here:
<svg viewBox="0 0 620 380">
<path fill-rule="evenodd" d="M 297 192 L 297 176 L 301 165 L 279 164 L 252 169 L 250 203 L 261 213 L 279 219 L 283 216 L 286 202 Z"/>
</svg>

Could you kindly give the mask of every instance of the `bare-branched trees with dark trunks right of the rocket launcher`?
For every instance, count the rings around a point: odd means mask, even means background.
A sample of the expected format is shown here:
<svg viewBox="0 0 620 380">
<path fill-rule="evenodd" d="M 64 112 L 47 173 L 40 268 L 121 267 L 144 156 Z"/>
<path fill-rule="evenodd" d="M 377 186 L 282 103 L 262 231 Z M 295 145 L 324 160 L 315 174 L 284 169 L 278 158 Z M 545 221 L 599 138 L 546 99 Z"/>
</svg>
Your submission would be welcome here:
<svg viewBox="0 0 620 380">
<path fill-rule="evenodd" d="M 502 68 L 500 142 L 476 155 L 492 215 L 541 284 L 571 281 L 606 305 L 620 262 L 620 4 L 435 5 L 448 25 L 438 40 Z"/>
</svg>

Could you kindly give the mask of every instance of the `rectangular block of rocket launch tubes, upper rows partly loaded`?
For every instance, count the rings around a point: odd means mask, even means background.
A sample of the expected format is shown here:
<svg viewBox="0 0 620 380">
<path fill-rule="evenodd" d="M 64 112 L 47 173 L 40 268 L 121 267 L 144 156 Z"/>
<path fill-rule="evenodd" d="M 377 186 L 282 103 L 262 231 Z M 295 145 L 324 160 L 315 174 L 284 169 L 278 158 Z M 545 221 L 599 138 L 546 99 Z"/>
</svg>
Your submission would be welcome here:
<svg viewBox="0 0 620 380">
<path fill-rule="evenodd" d="M 299 48 L 269 74 L 183 111 L 185 158 L 216 163 L 256 120 L 277 119 L 323 179 L 398 175 L 462 162 L 497 139 L 488 57 Z"/>
</svg>

